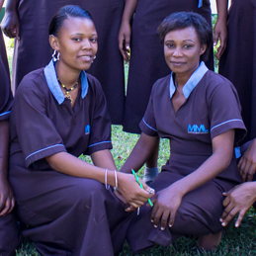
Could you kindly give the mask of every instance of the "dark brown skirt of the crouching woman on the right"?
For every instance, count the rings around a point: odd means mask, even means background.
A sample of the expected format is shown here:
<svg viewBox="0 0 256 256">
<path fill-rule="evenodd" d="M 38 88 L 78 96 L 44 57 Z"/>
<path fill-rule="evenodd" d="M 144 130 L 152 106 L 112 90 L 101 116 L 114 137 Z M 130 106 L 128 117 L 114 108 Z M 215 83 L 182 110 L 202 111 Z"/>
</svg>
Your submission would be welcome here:
<svg viewBox="0 0 256 256">
<path fill-rule="evenodd" d="M 151 187 L 159 192 L 176 181 L 195 171 L 206 159 L 206 156 L 194 157 L 194 161 L 181 161 L 182 155 L 171 156 L 167 165 L 163 166 L 161 173 L 156 177 Z M 235 159 L 229 167 L 237 170 Z M 230 170 L 230 169 L 229 169 Z M 227 171 L 227 170 L 225 170 Z M 182 235 L 205 235 L 217 233 L 223 230 L 219 217 L 223 213 L 222 193 L 229 191 L 239 184 L 241 178 L 237 178 L 234 170 L 229 171 L 229 177 L 219 175 L 212 181 L 187 193 L 176 213 L 174 224 L 171 228 L 160 230 L 155 228 L 150 221 L 152 209 L 143 206 L 139 215 L 134 214 L 128 226 L 128 243 L 133 253 L 140 252 L 154 243 L 170 246 Z M 222 177 L 223 176 L 223 177 Z"/>
</svg>

